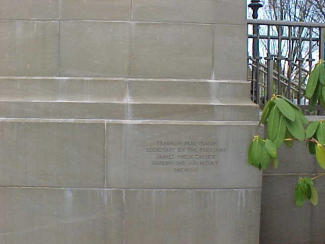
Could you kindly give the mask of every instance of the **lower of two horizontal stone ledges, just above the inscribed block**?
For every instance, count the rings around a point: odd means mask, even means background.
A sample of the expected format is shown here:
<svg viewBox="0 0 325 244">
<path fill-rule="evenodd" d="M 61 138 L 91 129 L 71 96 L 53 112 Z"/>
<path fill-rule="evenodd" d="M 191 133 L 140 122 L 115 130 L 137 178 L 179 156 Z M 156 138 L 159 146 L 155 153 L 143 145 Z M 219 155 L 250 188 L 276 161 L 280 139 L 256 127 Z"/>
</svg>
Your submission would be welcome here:
<svg viewBox="0 0 325 244">
<path fill-rule="evenodd" d="M 257 121 L 254 104 L 0 101 L 1 118 Z"/>
</svg>

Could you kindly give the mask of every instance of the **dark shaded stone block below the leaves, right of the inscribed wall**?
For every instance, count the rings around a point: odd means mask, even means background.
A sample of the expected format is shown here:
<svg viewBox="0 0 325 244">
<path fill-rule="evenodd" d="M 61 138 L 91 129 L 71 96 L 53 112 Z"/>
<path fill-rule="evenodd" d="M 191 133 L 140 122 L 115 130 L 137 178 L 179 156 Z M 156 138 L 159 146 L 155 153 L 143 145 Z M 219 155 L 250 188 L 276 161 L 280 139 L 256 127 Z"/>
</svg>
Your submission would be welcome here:
<svg viewBox="0 0 325 244">
<path fill-rule="evenodd" d="M 260 244 L 311 243 L 311 204 L 298 208 L 293 203 L 299 177 L 263 177 Z"/>
</svg>

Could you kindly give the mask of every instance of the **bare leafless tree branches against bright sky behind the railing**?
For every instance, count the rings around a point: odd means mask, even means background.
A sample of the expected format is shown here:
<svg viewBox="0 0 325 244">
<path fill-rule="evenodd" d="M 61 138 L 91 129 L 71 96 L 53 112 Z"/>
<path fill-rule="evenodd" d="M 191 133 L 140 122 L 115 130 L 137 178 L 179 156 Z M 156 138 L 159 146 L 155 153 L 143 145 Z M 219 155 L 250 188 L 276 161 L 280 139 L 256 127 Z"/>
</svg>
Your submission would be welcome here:
<svg viewBox="0 0 325 244">
<path fill-rule="evenodd" d="M 277 21 L 325 22 L 325 0 L 265 0 L 260 16 L 263 19 Z M 274 56 L 273 67 L 274 73 L 277 74 L 275 76 L 277 93 L 291 94 L 289 99 L 295 99 L 298 103 L 304 104 L 305 101 L 300 99 L 301 93 L 298 94 L 296 90 L 300 90 L 301 87 L 305 88 L 305 77 L 316 60 L 321 58 L 317 41 L 320 36 L 319 28 L 274 25 L 267 29 L 267 26 L 259 26 L 260 35 L 266 36 L 269 31 L 274 40 L 260 39 L 259 62 L 266 66 L 267 61 L 264 58 L 269 59 Z M 286 38 L 288 36 L 292 39 L 288 40 Z M 304 41 L 301 41 L 302 39 Z M 251 56 L 254 55 L 251 54 Z M 295 91 L 287 85 L 289 81 L 296 84 L 291 84 L 296 88 Z"/>
</svg>

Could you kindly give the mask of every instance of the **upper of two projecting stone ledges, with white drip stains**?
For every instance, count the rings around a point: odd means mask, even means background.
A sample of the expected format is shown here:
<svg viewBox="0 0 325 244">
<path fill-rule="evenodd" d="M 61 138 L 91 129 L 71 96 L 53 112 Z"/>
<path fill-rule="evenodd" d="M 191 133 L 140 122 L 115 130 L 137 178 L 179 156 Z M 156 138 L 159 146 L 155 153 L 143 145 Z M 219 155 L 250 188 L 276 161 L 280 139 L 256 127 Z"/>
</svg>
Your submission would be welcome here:
<svg viewBox="0 0 325 244">
<path fill-rule="evenodd" d="M 0 77 L 0 101 L 251 105 L 247 81 Z"/>
</svg>

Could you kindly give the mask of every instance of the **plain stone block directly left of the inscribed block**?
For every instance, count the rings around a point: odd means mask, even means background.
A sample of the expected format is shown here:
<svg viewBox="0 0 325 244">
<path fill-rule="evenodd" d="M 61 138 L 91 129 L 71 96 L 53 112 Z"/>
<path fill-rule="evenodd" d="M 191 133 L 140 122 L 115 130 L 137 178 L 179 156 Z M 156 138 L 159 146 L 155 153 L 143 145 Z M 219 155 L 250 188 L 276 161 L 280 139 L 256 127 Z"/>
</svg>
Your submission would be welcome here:
<svg viewBox="0 0 325 244">
<path fill-rule="evenodd" d="M 0 186 L 103 187 L 104 134 L 100 123 L 2 121 Z"/>
</svg>

